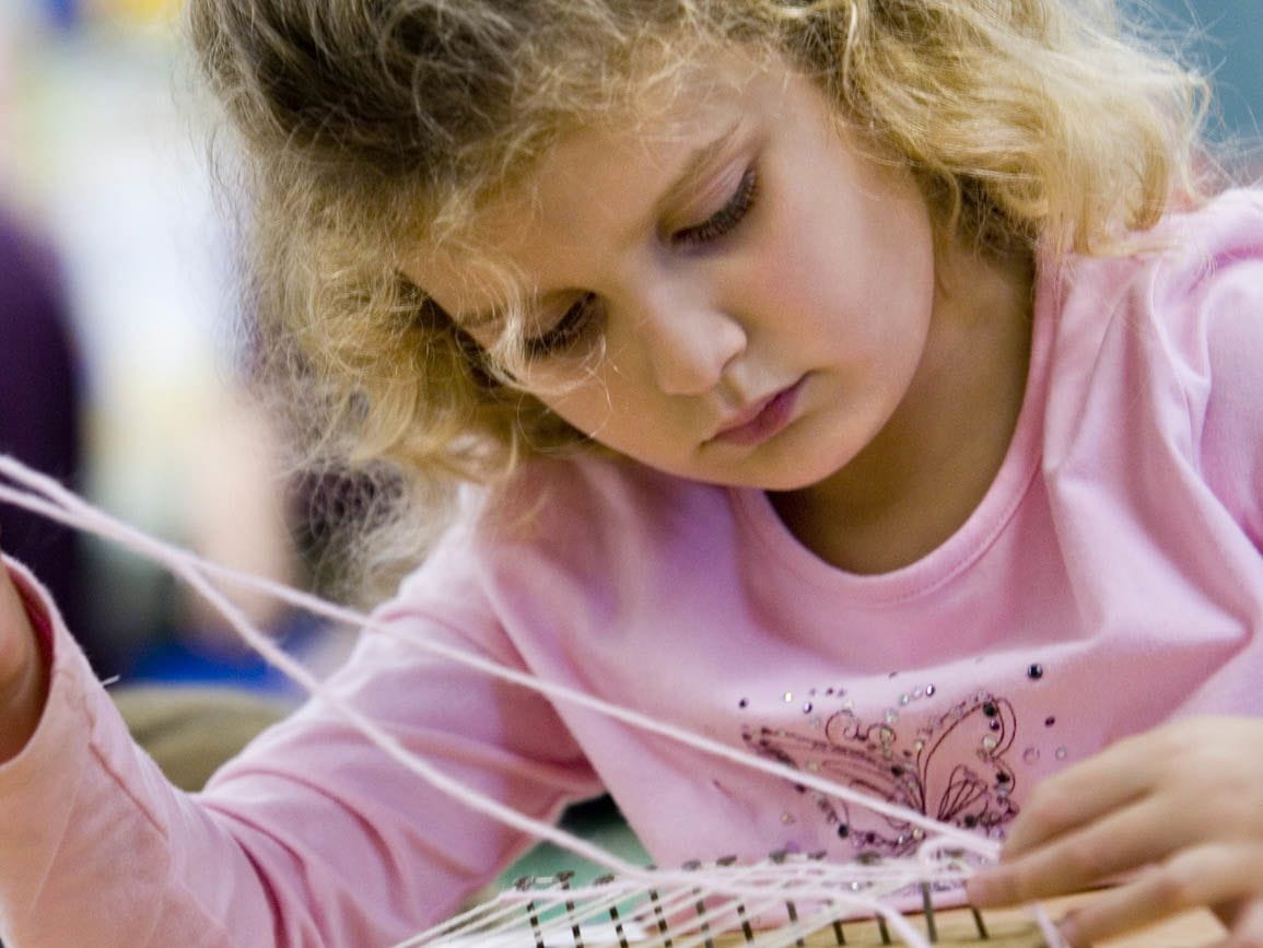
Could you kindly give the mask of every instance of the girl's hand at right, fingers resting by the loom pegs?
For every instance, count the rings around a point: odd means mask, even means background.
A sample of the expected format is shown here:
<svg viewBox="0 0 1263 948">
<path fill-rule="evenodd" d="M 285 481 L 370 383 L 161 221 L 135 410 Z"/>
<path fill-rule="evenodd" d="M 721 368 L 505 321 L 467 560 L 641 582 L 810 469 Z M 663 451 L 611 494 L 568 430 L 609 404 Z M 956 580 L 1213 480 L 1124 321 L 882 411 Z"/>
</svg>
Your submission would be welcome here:
<svg viewBox="0 0 1263 948">
<path fill-rule="evenodd" d="M 1046 780 L 967 889 L 979 906 L 1013 905 L 1133 871 L 1061 923 L 1067 942 L 1209 906 L 1224 945 L 1263 945 L 1263 721 L 1164 725 Z"/>
</svg>

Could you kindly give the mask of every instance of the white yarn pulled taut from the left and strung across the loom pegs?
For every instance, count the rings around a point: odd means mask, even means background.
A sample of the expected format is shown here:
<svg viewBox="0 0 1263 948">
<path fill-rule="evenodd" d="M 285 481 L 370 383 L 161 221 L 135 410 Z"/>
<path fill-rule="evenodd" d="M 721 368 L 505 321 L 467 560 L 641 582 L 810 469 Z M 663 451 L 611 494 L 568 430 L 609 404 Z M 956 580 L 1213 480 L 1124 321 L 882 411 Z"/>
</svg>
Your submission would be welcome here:
<svg viewBox="0 0 1263 948">
<path fill-rule="evenodd" d="M 110 516 L 67 490 L 56 480 L 29 470 L 11 457 L 0 454 L 0 475 L 4 475 L 21 487 L 16 489 L 0 483 L 0 501 L 8 501 L 68 526 L 93 533 L 117 543 L 138 555 L 154 560 L 179 576 L 224 615 L 225 620 L 244 641 L 278 670 L 298 683 L 313 699 L 325 702 L 361 732 L 366 740 L 422 780 L 489 818 L 528 833 L 537 839 L 552 842 L 615 874 L 615 880 L 609 881 L 606 885 L 557 891 L 548 890 L 547 892 L 537 889 L 505 892 L 493 905 L 475 909 L 466 916 L 450 920 L 427 933 L 418 934 L 400 943 L 399 948 L 408 945 L 474 944 L 467 939 L 465 942 L 458 940 L 461 938 L 460 929 L 462 924 L 486 924 L 489 920 L 496 919 L 498 924 L 505 925 L 510 924 L 510 921 L 520 923 L 523 920 L 524 906 L 532 901 L 539 905 L 549 903 L 553 906 L 578 906 L 582 904 L 585 918 L 595 918 L 602 913 L 609 914 L 609 910 L 619 900 L 642 898 L 650 891 L 655 899 L 659 899 L 658 910 L 667 913 L 667 905 L 669 905 L 671 913 L 691 914 L 695 916 L 693 921 L 696 924 L 707 921 L 716 930 L 721 923 L 724 927 L 739 924 L 739 920 L 731 914 L 735 910 L 733 908 L 735 903 L 731 900 L 743 900 L 740 904 L 751 909 L 759 906 L 773 909 L 783 906 L 787 901 L 821 906 L 818 910 L 808 911 L 797 924 L 784 925 L 777 929 L 775 933 L 760 934 L 759 938 L 764 938 L 764 934 L 767 934 L 768 940 L 758 940 L 755 944 L 791 944 L 801 935 L 827 924 L 830 918 L 839 918 L 840 914 L 875 914 L 883 918 L 892 929 L 898 932 L 899 937 L 907 944 L 921 948 L 928 945 L 925 935 L 899 911 L 885 904 L 884 900 L 897 892 L 907 891 L 909 886 L 918 884 L 962 880 L 970 872 L 970 867 L 962 858 L 965 853 L 983 861 L 994 861 L 998 858 L 999 844 L 995 841 L 985 839 L 946 823 L 940 823 L 917 810 L 868 797 L 851 788 L 841 786 L 827 779 L 720 744 L 669 722 L 605 702 L 585 692 L 499 665 L 480 655 L 474 655 L 441 643 L 405 635 L 400 630 L 355 610 L 338 606 L 311 593 L 293 590 L 282 583 L 206 560 L 188 550 L 149 536 Z M 628 863 L 614 853 L 568 833 L 552 823 L 533 819 L 505 807 L 499 800 L 453 780 L 423 759 L 410 754 L 369 717 L 326 688 L 302 663 L 292 658 L 268 635 L 255 627 L 231 598 L 212 583 L 212 577 L 220 582 L 264 592 L 292 606 L 306 610 L 312 615 L 338 624 L 357 626 L 365 631 L 397 637 L 412 648 L 422 649 L 429 654 L 501 680 L 530 688 L 551 699 L 585 707 L 720 759 L 808 786 L 892 819 L 912 823 L 932 836 L 926 839 L 916 856 L 903 860 L 883 860 L 875 865 L 836 865 L 815 860 L 791 858 L 764 861 L 753 866 L 712 866 L 668 871 L 648 870 Z M 715 898 L 726 901 L 721 901 L 714 909 L 707 906 L 706 913 L 698 915 L 696 906 L 705 903 L 706 899 Z M 500 918 L 496 915 L 498 911 L 505 911 L 506 914 Z M 572 930 L 572 925 L 577 924 L 577 921 L 570 918 L 572 914 L 573 911 L 567 908 L 567 911 L 560 916 L 560 921 L 554 919 L 549 924 L 563 925 L 565 933 L 568 934 Z M 1056 944 L 1053 940 L 1056 930 L 1047 921 L 1047 916 L 1042 915 L 1042 913 L 1038 914 L 1037 923 L 1045 932 L 1048 943 Z M 643 924 L 643 920 L 640 924 Z M 652 940 L 654 937 L 653 932 L 649 932 L 648 935 L 650 940 L 638 942 L 637 944 L 658 943 Z M 688 943 L 685 938 L 686 935 L 682 934 L 672 934 L 673 944 L 676 945 Z M 789 940 L 784 940 L 786 938 Z M 702 938 L 702 940 L 693 943 L 702 944 L 705 940 Z M 477 944 L 491 943 L 477 942 Z M 505 944 L 509 943 L 506 942 Z M 570 944 L 573 943 L 571 942 Z"/>
</svg>

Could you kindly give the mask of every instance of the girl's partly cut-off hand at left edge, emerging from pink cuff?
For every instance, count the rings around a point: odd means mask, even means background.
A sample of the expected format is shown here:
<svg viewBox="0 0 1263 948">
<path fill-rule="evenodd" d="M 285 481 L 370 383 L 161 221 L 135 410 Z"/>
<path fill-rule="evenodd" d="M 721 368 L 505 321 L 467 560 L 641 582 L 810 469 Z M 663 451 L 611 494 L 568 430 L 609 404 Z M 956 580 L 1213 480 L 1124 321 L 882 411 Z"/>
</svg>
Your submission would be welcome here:
<svg viewBox="0 0 1263 948">
<path fill-rule="evenodd" d="M 35 732 L 48 696 L 48 669 L 27 607 L 0 563 L 0 764 Z"/>
</svg>

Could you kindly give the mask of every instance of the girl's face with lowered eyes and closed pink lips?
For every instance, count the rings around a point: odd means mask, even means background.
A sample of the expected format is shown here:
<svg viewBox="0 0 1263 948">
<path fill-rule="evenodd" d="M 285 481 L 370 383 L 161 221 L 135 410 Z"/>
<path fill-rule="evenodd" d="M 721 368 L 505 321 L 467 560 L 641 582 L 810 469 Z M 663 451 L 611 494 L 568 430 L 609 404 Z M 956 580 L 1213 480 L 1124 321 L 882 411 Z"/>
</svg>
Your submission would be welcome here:
<svg viewBox="0 0 1263 948">
<path fill-rule="evenodd" d="M 582 129 L 479 217 L 528 290 L 522 381 L 602 444 L 682 477 L 794 490 L 899 408 L 935 308 L 930 213 L 808 80 L 739 56 L 652 117 Z M 467 264 L 409 275 L 481 343 Z"/>
</svg>

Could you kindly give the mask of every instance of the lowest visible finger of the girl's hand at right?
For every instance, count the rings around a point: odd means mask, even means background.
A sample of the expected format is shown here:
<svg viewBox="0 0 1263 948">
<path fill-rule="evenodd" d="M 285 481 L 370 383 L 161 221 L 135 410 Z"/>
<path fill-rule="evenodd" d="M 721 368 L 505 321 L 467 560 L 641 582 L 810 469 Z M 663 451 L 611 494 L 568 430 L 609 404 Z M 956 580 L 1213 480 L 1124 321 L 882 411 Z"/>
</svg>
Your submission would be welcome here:
<svg viewBox="0 0 1263 948">
<path fill-rule="evenodd" d="M 1258 886 L 1257 846 L 1216 843 L 1185 850 L 1127 885 L 1101 892 L 1058 928 L 1072 945 L 1092 944 L 1186 909 L 1239 899 L 1250 886 Z M 1263 919 L 1245 913 L 1239 920 Z"/>
</svg>

